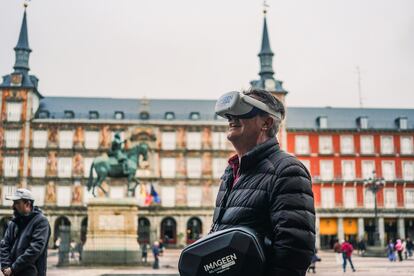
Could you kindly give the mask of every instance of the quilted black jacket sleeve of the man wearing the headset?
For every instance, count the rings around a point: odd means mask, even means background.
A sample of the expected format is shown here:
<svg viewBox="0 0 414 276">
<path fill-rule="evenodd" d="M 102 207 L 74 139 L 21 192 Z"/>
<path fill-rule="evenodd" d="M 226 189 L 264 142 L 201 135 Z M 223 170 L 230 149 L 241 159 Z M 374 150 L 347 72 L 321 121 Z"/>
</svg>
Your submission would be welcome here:
<svg viewBox="0 0 414 276">
<path fill-rule="evenodd" d="M 273 229 L 269 273 L 305 275 L 315 250 L 315 208 L 309 172 L 296 158 L 272 179 L 270 220 Z"/>
</svg>

